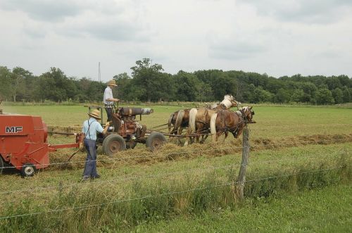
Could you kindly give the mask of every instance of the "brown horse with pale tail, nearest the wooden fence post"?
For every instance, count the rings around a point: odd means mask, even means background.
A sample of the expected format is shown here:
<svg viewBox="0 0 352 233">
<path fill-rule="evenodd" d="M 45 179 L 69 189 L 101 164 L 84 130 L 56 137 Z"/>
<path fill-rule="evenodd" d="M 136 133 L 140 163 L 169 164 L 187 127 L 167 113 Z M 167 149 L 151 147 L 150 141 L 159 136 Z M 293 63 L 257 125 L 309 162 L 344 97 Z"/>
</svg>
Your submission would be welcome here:
<svg viewBox="0 0 352 233">
<path fill-rule="evenodd" d="M 210 132 L 213 143 L 218 141 L 222 133 L 225 133 L 223 141 L 225 141 L 229 132 L 234 135 L 234 138 L 238 138 L 247 123 L 255 123 L 252 120 L 253 115 L 252 107 L 247 106 L 240 108 L 236 112 L 224 110 L 213 114 L 210 119 Z"/>
</svg>

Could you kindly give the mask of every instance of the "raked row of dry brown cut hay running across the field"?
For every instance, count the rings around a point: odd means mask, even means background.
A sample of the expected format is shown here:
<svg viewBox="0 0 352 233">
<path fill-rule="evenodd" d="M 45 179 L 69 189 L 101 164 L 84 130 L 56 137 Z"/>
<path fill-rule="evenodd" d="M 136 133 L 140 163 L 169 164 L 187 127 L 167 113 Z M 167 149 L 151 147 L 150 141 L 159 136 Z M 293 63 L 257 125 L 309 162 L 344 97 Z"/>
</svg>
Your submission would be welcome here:
<svg viewBox="0 0 352 233">
<path fill-rule="evenodd" d="M 61 136 L 55 136 L 61 137 Z M 308 144 L 336 144 L 352 141 L 352 134 L 313 134 L 310 136 L 287 137 L 280 140 L 253 139 L 250 141 L 251 151 L 265 149 L 280 149 Z M 240 153 L 242 151 L 241 139 L 231 139 L 218 144 L 191 144 L 189 146 L 177 146 L 172 143 L 163 145 L 156 151 L 149 151 L 144 146 L 136 149 L 120 151 L 115 156 L 104 156 L 101 149 L 98 149 L 98 166 L 104 168 L 117 168 L 123 165 L 135 165 L 160 163 L 170 160 L 192 159 L 196 157 L 213 158 L 228 154 Z M 65 163 L 69 157 L 68 150 L 51 153 L 51 163 L 59 165 L 51 166 L 52 170 L 80 169 L 84 165 L 85 153 L 77 153 L 70 163 Z M 67 156 L 65 156 L 67 154 Z M 60 164 L 64 163 L 64 164 Z"/>
</svg>

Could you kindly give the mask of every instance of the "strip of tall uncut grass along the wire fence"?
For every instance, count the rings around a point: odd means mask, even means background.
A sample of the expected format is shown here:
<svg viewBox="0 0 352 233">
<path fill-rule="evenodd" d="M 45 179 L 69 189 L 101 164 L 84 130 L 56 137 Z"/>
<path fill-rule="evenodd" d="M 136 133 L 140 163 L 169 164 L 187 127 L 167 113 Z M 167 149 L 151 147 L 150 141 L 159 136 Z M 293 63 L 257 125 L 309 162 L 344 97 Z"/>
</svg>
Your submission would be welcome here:
<svg viewBox="0 0 352 233">
<path fill-rule="evenodd" d="M 336 169 L 330 169 L 336 168 Z M 247 176 L 246 199 L 268 197 L 282 192 L 316 189 L 331 184 L 351 183 L 352 158 L 315 163 L 314 168 L 293 166 L 291 172 L 260 170 Z M 3 205 L 2 216 L 24 215 L 0 220 L 1 232 L 96 232 L 128 229 L 145 222 L 167 220 L 177 215 L 198 215 L 203 211 L 237 208 L 237 170 L 225 176 L 206 172 L 199 178 L 135 180 L 119 186 L 87 183 L 79 189 L 59 189 L 51 199 Z M 265 180 L 261 180 L 265 177 Z M 40 198 L 40 196 L 39 196 Z"/>
</svg>

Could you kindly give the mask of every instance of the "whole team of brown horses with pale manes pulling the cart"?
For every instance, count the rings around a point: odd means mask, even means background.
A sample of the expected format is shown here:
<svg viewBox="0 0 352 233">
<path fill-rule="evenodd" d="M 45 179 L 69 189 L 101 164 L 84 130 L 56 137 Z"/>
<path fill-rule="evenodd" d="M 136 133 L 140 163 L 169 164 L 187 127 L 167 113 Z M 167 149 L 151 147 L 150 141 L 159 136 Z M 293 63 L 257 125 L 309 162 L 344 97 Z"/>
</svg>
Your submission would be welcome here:
<svg viewBox="0 0 352 233">
<path fill-rule="evenodd" d="M 254 122 L 252 107 L 239 108 L 239 104 L 241 103 L 236 101 L 232 95 L 225 95 L 220 103 L 210 107 L 176 111 L 170 115 L 168 120 L 169 134 L 175 134 L 178 143 L 181 144 L 182 131 L 188 127 L 184 146 L 193 142 L 194 139 L 199 142 L 200 137 L 202 137 L 200 142 L 203 143 L 209 133 L 212 135 L 213 143 L 218 141 L 221 134 L 225 134 L 225 141 L 229 132 L 237 138 L 247 123 Z M 232 107 L 237 107 L 238 110 L 230 111 Z"/>
</svg>

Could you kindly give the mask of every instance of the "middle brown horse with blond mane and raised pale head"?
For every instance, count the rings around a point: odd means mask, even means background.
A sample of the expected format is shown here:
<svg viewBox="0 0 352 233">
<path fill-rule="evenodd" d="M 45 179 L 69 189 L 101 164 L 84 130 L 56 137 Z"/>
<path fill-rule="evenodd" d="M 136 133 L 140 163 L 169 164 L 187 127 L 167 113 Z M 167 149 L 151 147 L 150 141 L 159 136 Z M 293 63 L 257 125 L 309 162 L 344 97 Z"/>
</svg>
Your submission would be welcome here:
<svg viewBox="0 0 352 233">
<path fill-rule="evenodd" d="M 191 108 L 189 111 L 189 127 L 187 130 L 187 135 L 196 134 L 196 141 L 199 142 L 200 134 L 202 134 L 201 142 L 205 141 L 208 135 L 204 137 L 204 134 L 209 132 L 210 118 L 214 113 L 218 111 L 236 107 L 239 105 L 232 95 L 224 96 L 224 100 L 216 108 Z M 189 139 L 191 136 L 186 137 L 184 146 L 189 144 Z"/>
</svg>

